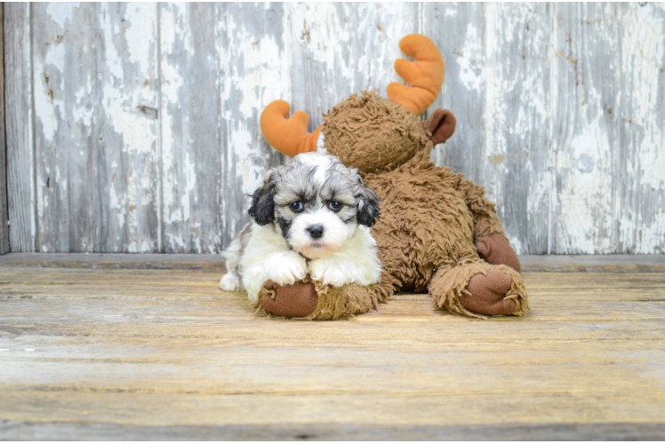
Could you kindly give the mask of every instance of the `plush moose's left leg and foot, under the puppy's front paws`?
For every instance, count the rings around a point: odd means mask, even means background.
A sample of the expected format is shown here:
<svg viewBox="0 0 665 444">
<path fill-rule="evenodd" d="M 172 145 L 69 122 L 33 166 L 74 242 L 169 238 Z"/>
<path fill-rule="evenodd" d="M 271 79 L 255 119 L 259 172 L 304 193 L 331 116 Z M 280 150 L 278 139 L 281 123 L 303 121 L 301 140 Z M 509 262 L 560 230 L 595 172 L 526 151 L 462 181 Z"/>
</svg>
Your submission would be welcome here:
<svg viewBox="0 0 665 444">
<path fill-rule="evenodd" d="M 257 312 L 263 310 L 275 316 L 333 321 L 371 312 L 380 302 L 386 302 L 392 292 L 389 283 L 333 288 L 316 281 L 296 282 L 284 287 L 268 281 L 252 306 Z"/>
</svg>

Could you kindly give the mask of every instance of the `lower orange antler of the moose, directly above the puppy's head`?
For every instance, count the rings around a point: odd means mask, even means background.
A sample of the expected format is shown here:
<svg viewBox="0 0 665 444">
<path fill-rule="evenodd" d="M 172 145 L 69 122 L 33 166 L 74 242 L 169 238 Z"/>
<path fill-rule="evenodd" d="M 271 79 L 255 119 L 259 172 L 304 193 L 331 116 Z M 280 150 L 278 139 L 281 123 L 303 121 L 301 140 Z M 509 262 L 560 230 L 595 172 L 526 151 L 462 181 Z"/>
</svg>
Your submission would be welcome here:
<svg viewBox="0 0 665 444">
<path fill-rule="evenodd" d="M 270 103 L 260 115 L 260 131 L 263 132 L 263 137 L 271 147 L 291 157 L 316 151 L 316 140 L 324 125 L 309 134 L 309 115 L 298 111 L 287 119 L 290 110 L 291 107 L 284 100 Z"/>
</svg>

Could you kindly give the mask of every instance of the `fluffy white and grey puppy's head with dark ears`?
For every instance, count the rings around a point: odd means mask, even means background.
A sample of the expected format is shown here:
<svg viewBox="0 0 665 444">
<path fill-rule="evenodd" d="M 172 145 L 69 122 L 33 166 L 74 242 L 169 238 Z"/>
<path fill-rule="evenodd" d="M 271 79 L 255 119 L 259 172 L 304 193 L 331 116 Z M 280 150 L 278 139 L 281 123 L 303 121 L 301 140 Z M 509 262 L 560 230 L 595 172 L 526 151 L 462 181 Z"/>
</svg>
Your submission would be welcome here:
<svg viewBox="0 0 665 444">
<path fill-rule="evenodd" d="M 337 157 L 305 153 L 268 171 L 249 214 L 261 226 L 274 223 L 293 250 L 316 259 L 338 250 L 358 224 L 373 226 L 379 198 Z"/>
</svg>

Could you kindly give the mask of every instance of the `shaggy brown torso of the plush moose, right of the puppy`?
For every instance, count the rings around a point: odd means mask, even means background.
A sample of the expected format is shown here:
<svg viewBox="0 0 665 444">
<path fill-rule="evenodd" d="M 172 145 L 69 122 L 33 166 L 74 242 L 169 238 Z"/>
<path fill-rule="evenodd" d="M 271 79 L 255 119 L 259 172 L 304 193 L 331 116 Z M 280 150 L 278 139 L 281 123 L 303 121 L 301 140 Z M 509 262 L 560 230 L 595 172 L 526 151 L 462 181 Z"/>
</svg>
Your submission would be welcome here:
<svg viewBox="0 0 665 444">
<path fill-rule="evenodd" d="M 461 177 L 422 157 L 365 177 L 381 197 L 381 218 L 372 234 L 381 264 L 397 279 L 398 289 L 426 290 L 440 267 L 477 258 Z"/>
</svg>

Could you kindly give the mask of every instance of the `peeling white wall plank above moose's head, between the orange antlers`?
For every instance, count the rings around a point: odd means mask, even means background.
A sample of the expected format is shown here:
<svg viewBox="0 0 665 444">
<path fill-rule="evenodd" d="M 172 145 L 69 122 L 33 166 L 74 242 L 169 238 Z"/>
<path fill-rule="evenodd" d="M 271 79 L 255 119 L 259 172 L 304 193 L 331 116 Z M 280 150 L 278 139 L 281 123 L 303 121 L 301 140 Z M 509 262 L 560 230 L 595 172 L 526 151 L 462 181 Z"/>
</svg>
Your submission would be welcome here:
<svg viewBox="0 0 665 444">
<path fill-rule="evenodd" d="M 403 36 L 418 32 L 419 4 L 300 3 L 290 5 L 292 106 L 310 117 L 309 130 L 350 94 L 399 81 Z"/>
</svg>

